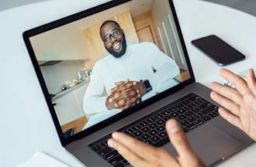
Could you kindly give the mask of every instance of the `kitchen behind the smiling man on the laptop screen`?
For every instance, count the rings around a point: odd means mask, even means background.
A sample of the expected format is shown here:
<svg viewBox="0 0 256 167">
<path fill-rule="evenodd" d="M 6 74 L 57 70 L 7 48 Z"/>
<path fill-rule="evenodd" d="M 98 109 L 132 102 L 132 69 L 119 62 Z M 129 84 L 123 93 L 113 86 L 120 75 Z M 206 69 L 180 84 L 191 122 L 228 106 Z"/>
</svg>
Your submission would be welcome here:
<svg viewBox="0 0 256 167">
<path fill-rule="evenodd" d="M 159 1 L 133 0 L 30 38 L 64 131 L 81 130 L 92 116 L 85 115 L 82 101 L 92 67 L 107 55 L 99 27 L 108 19 L 119 22 L 128 43 L 155 43 L 180 66 L 176 79 L 188 79 L 168 0 Z"/>
</svg>

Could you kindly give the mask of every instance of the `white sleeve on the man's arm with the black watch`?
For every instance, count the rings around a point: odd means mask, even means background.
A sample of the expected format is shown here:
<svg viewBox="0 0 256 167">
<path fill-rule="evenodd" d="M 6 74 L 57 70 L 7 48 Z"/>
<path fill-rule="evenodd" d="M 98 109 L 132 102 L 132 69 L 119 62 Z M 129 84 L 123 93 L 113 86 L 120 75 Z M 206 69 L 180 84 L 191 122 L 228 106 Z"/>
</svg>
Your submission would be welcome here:
<svg viewBox="0 0 256 167">
<path fill-rule="evenodd" d="M 177 82 L 173 78 L 180 73 L 178 65 L 153 43 L 150 43 L 150 48 L 152 49 L 150 49 L 150 57 L 147 60 L 152 72 L 148 80 L 154 92 L 163 90 L 166 85 L 175 86 Z"/>
</svg>

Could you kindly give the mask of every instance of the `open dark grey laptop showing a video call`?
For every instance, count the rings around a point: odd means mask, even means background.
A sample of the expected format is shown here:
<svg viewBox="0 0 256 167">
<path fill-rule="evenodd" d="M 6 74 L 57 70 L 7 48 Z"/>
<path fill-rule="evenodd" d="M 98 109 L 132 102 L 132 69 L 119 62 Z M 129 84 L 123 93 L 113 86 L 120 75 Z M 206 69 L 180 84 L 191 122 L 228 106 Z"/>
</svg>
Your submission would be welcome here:
<svg viewBox="0 0 256 167">
<path fill-rule="evenodd" d="M 112 131 L 176 155 L 164 129 L 170 118 L 206 165 L 253 142 L 218 115 L 209 88 L 195 82 L 171 0 L 106 2 L 23 38 L 61 144 L 86 166 L 130 166 L 107 146 Z M 117 83 L 132 84 L 115 97 Z"/>
</svg>

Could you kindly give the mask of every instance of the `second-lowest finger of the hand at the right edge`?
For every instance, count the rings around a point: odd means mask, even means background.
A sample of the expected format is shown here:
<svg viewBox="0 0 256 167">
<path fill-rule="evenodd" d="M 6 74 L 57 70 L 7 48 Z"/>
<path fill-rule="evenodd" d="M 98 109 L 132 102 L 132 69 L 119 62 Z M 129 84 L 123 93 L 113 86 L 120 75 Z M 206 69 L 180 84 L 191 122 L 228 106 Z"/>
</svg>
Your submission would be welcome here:
<svg viewBox="0 0 256 167">
<path fill-rule="evenodd" d="M 228 111 L 232 112 L 233 114 L 239 116 L 240 115 L 240 107 L 234 101 L 230 101 L 226 97 L 221 96 L 216 92 L 212 92 L 210 94 L 213 101 L 220 104 L 222 107 L 226 108 Z"/>
</svg>

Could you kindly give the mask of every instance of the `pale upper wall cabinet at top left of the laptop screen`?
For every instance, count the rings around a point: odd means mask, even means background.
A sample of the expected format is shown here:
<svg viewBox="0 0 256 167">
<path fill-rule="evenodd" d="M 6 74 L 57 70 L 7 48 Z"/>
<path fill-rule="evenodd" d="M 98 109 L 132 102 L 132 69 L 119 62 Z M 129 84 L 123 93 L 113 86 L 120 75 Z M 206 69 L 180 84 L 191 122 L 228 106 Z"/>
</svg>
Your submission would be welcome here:
<svg viewBox="0 0 256 167">
<path fill-rule="evenodd" d="M 30 38 L 38 61 L 88 60 L 81 29 L 69 24 Z"/>
</svg>

